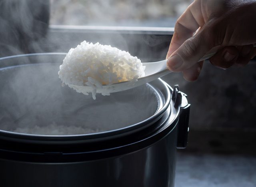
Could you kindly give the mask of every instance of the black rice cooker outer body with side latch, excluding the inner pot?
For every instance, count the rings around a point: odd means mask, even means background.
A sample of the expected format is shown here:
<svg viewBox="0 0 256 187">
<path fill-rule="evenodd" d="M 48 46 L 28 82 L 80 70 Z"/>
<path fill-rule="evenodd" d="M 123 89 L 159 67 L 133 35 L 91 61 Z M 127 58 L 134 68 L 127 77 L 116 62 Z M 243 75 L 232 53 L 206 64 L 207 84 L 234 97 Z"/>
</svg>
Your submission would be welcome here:
<svg viewBox="0 0 256 187">
<path fill-rule="evenodd" d="M 190 104 L 178 86 L 166 109 L 132 133 L 44 137 L 0 131 L 3 187 L 174 187 L 176 149 L 186 147 Z"/>
</svg>

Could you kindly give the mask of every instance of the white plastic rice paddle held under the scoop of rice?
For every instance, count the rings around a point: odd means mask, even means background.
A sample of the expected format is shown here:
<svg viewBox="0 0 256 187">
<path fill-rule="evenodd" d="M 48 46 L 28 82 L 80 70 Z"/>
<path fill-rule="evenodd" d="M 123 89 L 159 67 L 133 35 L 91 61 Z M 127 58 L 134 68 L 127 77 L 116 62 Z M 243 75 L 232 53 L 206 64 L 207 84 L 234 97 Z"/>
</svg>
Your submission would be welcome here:
<svg viewBox="0 0 256 187">
<path fill-rule="evenodd" d="M 253 44 L 253 47 L 256 47 L 256 44 Z M 216 54 L 216 52 L 217 52 L 217 48 L 211 50 L 208 54 L 203 56 L 198 62 L 211 58 L 212 56 L 214 56 L 214 54 Z M 107 93 L 108 94 L 108 93 L 113 93 L 113 92 L 121 92 L 124 90 L 135 88 L 137 86 L 141 86 L 143 84 L 146 84 L 148 82 L 156 80 L 162 76 L 165 76 L 165 75 L 171 73 L 171 71 L 167 69 L 166 62 L 167 62 L 167 60 L 162 60 L 159 62 L 142 63 L 143 66 L 146 66 L 144 77 L 138 78 L 138 80 L 136 82 L 125 81 L 125 82 L 118 82 L 118 83 L 112 84 L 111 86 L 103 85 L 102 88 L 100 88 L 100 89 L 97 88 L 97 93 Z M 84 89 L 86 92 L 93 92 L 93 88 L 90 86 L 72 85 L 72 87 L 77 87 L 77 88 L 79 88 L 79 90 Z"/>
</svg>

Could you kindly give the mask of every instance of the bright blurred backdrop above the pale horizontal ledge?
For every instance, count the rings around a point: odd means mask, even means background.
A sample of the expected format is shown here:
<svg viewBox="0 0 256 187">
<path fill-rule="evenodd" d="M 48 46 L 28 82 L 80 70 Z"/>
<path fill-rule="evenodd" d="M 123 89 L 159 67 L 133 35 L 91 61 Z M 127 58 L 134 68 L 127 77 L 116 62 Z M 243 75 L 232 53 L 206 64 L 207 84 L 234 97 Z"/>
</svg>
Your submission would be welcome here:
<svg viewBox="0 0 256 187">
<path fill-rule="evenodd" d="M 138 25 L 177 18 L 193 0 L 51 0 L 50 24 Z M 152 24 L 152 25 L 153 25 Z M 165 26 L 171 26 L 168 22 Z"/>
</svg>

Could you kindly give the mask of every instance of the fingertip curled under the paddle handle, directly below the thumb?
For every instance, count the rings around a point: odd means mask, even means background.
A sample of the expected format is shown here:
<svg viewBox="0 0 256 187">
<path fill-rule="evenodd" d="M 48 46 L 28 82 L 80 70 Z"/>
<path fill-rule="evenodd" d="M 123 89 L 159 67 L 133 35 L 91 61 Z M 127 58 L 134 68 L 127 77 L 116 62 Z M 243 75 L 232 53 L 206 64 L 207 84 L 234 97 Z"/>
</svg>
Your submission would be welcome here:
<svg viewBox="0 0 256 187">
<path fill-rule="evenodd" d="M 183 70 L 182 73 L 183 73 L 184 79 L 187 81 L 197 80 L 199 77 L 199 74 L 202 70 L 203 63 L 204 63 L 203 61 L 198 62 L 198 63 L 194 64 L 194 66 L 192 66 L 186 70 Z"/>
</svg>

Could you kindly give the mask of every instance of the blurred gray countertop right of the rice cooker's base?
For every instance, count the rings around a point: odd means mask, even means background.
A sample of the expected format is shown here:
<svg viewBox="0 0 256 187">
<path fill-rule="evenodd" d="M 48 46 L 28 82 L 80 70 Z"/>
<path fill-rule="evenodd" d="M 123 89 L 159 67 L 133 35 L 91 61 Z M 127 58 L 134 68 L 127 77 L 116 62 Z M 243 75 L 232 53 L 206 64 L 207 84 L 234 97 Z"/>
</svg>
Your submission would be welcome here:
<svg viewBox="0 0 256 187">
<path fill-rule="evenodd" d="M 256 187 L 256 157 L 178 151 L 175 187 Z"/>
</svg>

